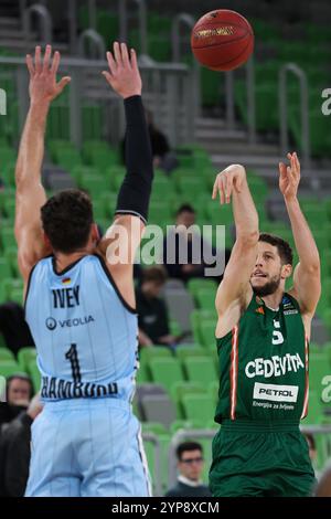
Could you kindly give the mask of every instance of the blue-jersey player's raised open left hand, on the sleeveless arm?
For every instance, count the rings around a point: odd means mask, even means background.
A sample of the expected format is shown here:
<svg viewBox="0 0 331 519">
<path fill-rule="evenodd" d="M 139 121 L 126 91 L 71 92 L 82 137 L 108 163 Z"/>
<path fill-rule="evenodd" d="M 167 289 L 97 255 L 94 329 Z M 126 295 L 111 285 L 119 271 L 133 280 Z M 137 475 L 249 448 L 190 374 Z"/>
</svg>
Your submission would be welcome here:
<svg viewBox="0 0 331 519">
<path fill-rule="evenodd" d="M 61 55 L 56 51 L 53 61 L 52 46 L 46 45 L 44 59 L 42 60 L 41 47 L 36 46 L 34 52 L 34 63 L 31 54 L 26 55 L 26 66 L 30 73 L 29 93 L 31 103 L 51 103 L 57 97 L 65 85 L 71 82 L 71 77 L 65 76 L 56 83 L 56 73 L 60 65 Z"/>
</svg>

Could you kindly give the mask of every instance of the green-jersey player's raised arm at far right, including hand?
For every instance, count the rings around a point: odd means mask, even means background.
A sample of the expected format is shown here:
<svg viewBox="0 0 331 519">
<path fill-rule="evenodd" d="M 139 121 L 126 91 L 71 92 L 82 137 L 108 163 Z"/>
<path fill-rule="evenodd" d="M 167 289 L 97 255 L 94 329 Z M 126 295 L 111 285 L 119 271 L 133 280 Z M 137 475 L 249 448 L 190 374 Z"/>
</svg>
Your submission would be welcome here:
<svg viewBox="0 0 331 519">
<path fill-rule="evenodd" d="M 293 273 L 290 294 L 298 300 L 302 315 L 312 317 L 321 295 L 320 255 L 299 200 L 300 162 L 296 152 L 288 153 L 289 166 L 279 163 L 279 189 L 291 222 L 299 263 Z"/>
</svg>

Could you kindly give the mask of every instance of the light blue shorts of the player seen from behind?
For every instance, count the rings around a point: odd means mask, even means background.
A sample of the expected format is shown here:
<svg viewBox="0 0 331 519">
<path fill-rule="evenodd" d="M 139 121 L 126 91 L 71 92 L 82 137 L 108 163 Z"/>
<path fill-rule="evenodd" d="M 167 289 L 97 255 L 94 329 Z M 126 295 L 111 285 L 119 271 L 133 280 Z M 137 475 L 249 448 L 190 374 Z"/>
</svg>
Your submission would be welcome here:
<svg viewBox="0 0 331 519">
<path fill-rule="evenodd" d="M 127 402 L 47 402 L 32 424 L 26 497 L 148 497 L 140 425 Z"/>
</svg>

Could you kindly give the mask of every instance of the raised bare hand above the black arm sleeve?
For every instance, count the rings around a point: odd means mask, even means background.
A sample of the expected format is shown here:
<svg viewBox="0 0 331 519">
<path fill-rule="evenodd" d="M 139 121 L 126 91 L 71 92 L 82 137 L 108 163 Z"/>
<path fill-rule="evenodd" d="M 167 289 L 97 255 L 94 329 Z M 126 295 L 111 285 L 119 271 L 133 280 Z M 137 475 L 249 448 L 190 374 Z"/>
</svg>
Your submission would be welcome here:
<svg viewBox="0 0 331 519">
<path fill-rule="evenodd" d="M 134 95 L 141 95 L 141 77 L 137 63 L 137 55 L 134 49 L 128 52 L 125 43 L 114 43 L 114 52 L 107 52 L 109 72 L 104 71 L 103 75 L 124 99 Z"/>
</svg>

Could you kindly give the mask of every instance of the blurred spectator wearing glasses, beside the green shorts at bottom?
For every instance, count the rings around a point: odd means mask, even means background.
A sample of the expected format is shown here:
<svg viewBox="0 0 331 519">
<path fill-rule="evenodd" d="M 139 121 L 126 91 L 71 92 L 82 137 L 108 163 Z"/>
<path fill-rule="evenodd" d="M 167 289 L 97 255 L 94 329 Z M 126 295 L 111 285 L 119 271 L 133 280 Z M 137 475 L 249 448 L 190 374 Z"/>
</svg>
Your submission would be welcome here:
<svg viewBox="0 0 331 519">
<path fill-rule="evenodd" d="M 166 497 L 211 497 L 212 494 L 201 479 L 203 470 L 202 445 L 195 442 L 181 443 L 177 448 L 178 483 Z"/>
</svg>

